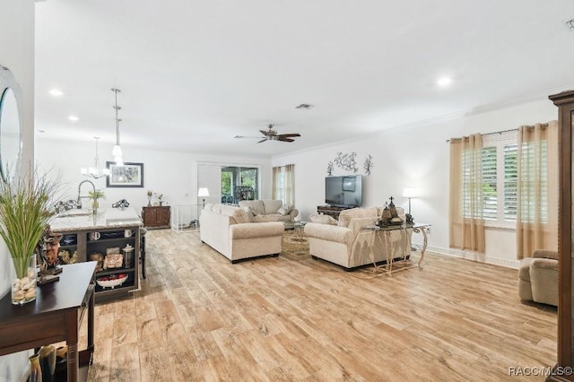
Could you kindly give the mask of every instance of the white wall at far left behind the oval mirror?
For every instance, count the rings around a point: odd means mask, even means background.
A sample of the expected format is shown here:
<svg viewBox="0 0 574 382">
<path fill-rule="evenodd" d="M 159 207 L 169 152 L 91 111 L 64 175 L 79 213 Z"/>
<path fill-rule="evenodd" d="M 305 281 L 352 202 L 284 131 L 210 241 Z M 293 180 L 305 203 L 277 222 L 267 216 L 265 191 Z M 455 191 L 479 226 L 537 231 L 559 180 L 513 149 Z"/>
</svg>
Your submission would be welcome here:
<svg viewBox="0 0 574 382">
<path fill-rule="evenodd" d="M 0 1 L 0 65 L 8 67 L 22 90 L 22 162 L 33 158 L 34 134 L 34 2 Z M 11 258 L 0 239 L 0 296 L 10 291 Z M 0 380 L 18 380 L 28 352 L 0 357 Z"/>
</svg>

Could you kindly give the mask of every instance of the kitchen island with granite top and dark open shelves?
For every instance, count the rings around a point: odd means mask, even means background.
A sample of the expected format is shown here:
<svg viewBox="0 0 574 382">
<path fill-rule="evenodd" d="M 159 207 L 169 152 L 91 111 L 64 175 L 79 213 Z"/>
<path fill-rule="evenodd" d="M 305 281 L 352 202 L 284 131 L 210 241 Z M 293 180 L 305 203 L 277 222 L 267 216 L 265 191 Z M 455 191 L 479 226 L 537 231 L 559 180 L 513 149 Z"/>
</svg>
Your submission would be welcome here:
<svg viewBox="0 0 574 382">
<path fill-rule="evenodd" d="M 68 210 L 50 227 L 61 233 L 58 257 L 63 264 L 97 261 L 95 300 L 115 300 L 139 289 L 140 228 L 134 209 Z"/>
</svg>

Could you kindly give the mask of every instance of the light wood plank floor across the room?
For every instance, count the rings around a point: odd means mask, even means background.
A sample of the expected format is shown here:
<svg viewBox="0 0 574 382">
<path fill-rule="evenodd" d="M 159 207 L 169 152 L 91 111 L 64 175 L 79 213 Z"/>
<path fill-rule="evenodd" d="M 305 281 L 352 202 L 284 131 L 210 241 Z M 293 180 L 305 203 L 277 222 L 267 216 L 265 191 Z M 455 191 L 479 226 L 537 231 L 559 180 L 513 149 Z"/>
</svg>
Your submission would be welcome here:
<svg viewBox="0 0 574 382">
<path fill-rule="evenodd" d="M 516 270 L 432 254 L 392 278 L 231 265 L 171 230 L 148 230 L 147 249 L 141 291 L 96 306 L 89 380 L 532 381 L 509 368 L 556 361 L 556 309 L 521 303 Z"/>
</svg>

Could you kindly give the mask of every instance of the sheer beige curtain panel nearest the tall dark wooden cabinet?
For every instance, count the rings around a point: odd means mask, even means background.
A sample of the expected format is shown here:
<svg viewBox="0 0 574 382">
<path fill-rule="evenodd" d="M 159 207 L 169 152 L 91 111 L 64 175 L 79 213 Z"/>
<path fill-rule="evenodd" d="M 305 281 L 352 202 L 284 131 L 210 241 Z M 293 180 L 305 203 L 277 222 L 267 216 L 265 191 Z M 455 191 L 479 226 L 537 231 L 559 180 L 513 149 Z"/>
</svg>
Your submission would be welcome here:
<svg viewBox="0 0 574 382">
<path fill-rule="evenodd" d="M 517 145 L 517 258 L 558 249 L 558 122 L 521 126 Z"/>
</svg>

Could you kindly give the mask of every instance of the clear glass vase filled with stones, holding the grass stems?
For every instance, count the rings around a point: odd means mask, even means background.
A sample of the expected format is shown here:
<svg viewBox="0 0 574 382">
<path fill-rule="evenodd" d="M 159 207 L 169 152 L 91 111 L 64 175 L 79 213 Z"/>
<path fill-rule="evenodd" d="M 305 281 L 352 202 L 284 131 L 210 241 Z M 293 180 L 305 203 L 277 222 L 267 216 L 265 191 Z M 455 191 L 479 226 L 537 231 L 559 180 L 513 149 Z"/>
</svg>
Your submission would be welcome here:
<svg viewBox="0 0 574 382">
<path fill-rule="evenodd" d="M 12 258 L 12 303 L 24 305 L 36 300 L 36 255 Z"/>
</svg>

